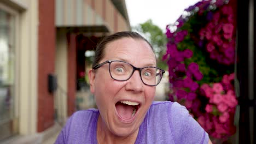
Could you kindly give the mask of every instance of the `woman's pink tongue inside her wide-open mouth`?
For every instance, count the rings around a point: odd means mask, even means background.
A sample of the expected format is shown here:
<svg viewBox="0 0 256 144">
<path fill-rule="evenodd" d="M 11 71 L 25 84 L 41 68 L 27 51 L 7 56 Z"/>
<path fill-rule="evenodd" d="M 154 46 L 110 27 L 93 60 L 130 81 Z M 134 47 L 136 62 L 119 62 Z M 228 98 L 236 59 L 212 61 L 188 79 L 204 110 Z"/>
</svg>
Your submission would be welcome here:
<svg viewBox="0 0 256 144">
<path fill-rule="evenodd" d="M 123 103 L 117 103 L 115 105 L 117 112 L 119 116 L 123 119 L 130 119 L 132 117 L 132 112 L 134 110 L 134 107 L 130 105 L 126 105 Z"/>
</svg>

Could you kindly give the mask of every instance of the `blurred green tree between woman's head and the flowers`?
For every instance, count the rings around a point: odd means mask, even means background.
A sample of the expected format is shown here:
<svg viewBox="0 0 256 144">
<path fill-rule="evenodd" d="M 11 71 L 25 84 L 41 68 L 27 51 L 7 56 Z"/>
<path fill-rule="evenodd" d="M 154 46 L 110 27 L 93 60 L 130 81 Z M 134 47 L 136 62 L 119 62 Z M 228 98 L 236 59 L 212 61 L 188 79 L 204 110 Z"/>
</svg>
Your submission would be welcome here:
<svg viewBox="0 0 256 144">
<path fill-rule="evenodd" d="M 166 52 L 167 38 L 162 29 L 154 25 L 152 20 L 149 19 L 144 23 L 132 27 L 132 30 L 141 33 L 152 44 L 158 67 L 166 70 L 167 64 L 162 61 L 162 55 Z"/>
</svg>

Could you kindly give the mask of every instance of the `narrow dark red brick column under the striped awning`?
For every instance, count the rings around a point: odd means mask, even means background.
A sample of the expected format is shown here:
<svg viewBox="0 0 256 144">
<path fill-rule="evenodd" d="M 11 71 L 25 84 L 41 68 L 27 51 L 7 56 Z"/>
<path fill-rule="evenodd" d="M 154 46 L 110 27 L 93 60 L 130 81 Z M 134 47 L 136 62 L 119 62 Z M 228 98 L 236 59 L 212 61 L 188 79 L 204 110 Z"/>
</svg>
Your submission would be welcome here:
<svg viewBox="0 0 256 144">
<path fill-rule="evenodd" d="M 68 116 L 71 116 L 72 113 L 75 111 L 75 92 L 76 92 L 76 73 L 77 73 L 77 49 L 76 49 L 76 35 L 75 34 L 67 34 L 67 41 L 68 41 L 68 77 L 67 77 L 67 84 L 68 84 L 68 98 L 67 98 L 67 105 L 68 105 Z"/>
</svg>

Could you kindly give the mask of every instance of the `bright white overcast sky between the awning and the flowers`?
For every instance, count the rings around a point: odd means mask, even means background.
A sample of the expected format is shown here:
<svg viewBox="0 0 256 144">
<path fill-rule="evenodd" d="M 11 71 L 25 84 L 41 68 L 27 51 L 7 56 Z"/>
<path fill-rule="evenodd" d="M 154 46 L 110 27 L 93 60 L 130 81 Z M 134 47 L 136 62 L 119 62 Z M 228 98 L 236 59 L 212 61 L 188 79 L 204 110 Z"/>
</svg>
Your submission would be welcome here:
<svg viewBox="0 0 256 144">
<path fill-rule="evenodd" d="M 131 26 L 148 19 L 165 32 L 166 25 L 174 23 L 185 8 L 200 0 L 125 0 Z"/>
</svg>

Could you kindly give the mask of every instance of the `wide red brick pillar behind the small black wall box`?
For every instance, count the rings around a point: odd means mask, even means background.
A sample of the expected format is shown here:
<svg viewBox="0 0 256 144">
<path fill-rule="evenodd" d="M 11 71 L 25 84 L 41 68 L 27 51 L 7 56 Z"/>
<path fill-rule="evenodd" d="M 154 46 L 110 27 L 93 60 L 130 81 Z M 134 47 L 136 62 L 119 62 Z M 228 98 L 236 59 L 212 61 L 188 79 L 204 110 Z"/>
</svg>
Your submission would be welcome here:
<svg viewBox="0 0 256 144">
<path fill-rule="evenodd" d="M 54 124 L 54 95 L 48 92 L 48 74 L 54 73 L 55 1 L 38 0 L 38 122 L 37 131 Z"/>
</svg>

